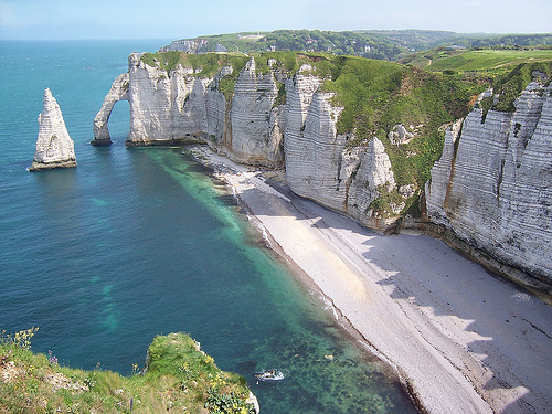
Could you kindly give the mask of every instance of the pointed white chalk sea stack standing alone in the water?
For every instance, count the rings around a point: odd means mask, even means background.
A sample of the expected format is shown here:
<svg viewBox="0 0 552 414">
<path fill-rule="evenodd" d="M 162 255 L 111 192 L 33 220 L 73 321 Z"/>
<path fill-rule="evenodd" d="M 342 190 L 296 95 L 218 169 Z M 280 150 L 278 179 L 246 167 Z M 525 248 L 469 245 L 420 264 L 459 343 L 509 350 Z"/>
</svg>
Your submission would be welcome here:
<svg viewBox="0 0 552 414">
<path fill-rule="evenodd" d="M 29 171 L 76 167 L 75 146 L 71 139 L 57 102 L 47 88 L 44 108 L 39 115 L 39 138 L 34 160 Z"/>
</svg>

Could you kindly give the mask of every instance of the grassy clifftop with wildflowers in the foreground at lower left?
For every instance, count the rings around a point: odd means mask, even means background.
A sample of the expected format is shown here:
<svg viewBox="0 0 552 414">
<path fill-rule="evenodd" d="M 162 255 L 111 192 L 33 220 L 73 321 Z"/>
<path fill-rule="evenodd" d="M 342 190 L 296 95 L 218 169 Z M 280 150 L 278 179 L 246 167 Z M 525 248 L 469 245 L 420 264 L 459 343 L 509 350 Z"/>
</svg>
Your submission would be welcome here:
<svg viewBox="0 0 552 414">
<path fill-rule="evenodd" d="M 245 379 L 223 372 L 184 333 L 158 336 L 144 372 L 71 369 L 34 354 L 38 328 L 0 337 L 0 413 L 254 413 Z"/>
</svg>

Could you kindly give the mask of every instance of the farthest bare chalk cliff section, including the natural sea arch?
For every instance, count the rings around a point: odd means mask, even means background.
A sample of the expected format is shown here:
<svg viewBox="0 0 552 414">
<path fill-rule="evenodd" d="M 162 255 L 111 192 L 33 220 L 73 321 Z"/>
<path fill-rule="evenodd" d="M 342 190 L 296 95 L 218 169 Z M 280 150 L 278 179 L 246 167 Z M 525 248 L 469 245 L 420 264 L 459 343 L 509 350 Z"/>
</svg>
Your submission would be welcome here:
<svg viewBox="0 0 552 414">
<path fill-rule="evenodd" d="M 283 166 L 283 107 L 275 106 L 278 89 L 273 72 L 256 73 L 252 59 L 238 74 L 232 105 L 220 91 L 223 67 L 214 77 L 194 76 L 176 65 L 169 73 L 129 57 L 129 71 L 115 79 L 94 120 L 93 145 L 109 144 L 107 121 L 117 100 L 130 103 L 127 146 L 208 142 L 238 162 Z"/>
</svg>

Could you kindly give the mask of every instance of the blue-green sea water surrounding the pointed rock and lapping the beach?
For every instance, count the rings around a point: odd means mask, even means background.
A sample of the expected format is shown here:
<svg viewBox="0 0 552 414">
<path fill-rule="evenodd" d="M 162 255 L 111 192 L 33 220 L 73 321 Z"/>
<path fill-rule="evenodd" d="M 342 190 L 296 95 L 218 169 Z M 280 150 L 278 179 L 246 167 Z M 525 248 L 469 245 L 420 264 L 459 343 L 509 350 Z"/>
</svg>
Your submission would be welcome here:
<svg viewBox="0 0 552 414">
<path fill-rule="evenodd" d="M 0 42 L 0 330 L 39 326 L 35 351 L 124 374 L 156 335 L 185 331 L 263 413 L 413 413 L 208 171 L 178 148 L 125 149 L 128 104 L 115 144 L 88 144 L 128 54 L 167 43 Z M 30 173 L 46 87 L 78 167 Z M 256 384 L 268 368 L 286 379 Z"/>
</svg>

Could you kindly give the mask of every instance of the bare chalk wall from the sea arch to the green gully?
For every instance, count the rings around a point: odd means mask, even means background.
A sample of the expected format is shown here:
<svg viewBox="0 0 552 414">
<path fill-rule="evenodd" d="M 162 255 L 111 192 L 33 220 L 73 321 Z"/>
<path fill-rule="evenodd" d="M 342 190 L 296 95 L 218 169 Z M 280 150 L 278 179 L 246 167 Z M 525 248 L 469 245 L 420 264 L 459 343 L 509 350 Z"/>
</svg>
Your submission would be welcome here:
<svg viewBox="0 0 552 414">
<path fill-rule="evenodd" d="M 395 188 L 383 144 L 373 138 L 364 147 L 347 147 L 351 137 L 336 130 L 342 108 L 330 104 L 332 94 L 320 91 L 323 79 L 312 75 L 310 65 L 288 74 L 273 61 L 262 72 L 252 57 L 226 105 L 220 82 L 232 74 L 232 66 L 199 78 L 190 67 L 178 64 L 167 73 L 141 56 L 131 54 L 128 73 L 113 83 L 94 120 L 93 144 L 110 142 L 110 110 L 115 102 L 126 99 L 127 146 L 201 141 L 234 161 L 269 168 L 283 167 L 285 153 L 293 191 L 384 230 L 385 220 L 370 208 L 379 188 Z M 279 105 L 278 84 L 285 84 L 286 93 L 286 103 Z"/>
</svg>

